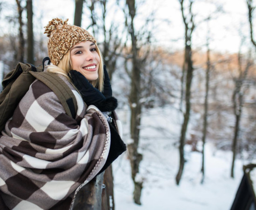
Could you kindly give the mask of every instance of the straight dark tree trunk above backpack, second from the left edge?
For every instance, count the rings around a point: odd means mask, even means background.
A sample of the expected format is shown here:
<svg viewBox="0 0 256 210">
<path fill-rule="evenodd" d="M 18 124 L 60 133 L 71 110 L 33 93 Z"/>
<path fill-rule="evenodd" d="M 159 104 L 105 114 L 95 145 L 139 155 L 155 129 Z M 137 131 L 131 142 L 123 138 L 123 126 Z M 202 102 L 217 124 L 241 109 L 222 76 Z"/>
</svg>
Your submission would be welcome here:
<svg viewBox="0 0 256 210">
<path fill-rule="evenodd" d="M 33 5 L 27 0 L 27 63 L 34 64 Z"/>
</svg>

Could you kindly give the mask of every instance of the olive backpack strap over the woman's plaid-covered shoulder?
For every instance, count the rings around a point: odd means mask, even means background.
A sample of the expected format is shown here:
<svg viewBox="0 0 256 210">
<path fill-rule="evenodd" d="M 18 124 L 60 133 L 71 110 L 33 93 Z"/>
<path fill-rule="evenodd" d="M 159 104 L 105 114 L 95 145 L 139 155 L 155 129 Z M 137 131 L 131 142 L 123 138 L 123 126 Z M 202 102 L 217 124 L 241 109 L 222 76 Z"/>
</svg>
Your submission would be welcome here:
<svg viewBox="0 0 256 210">
<path fill-rule="evenodd" d="M 67 115 L 75 118 L 77 102 L 74 93 L 58 75 L 51 72 L 29 71 L 29 73 L 52 89 L 59 98 Z"/>
</svg>

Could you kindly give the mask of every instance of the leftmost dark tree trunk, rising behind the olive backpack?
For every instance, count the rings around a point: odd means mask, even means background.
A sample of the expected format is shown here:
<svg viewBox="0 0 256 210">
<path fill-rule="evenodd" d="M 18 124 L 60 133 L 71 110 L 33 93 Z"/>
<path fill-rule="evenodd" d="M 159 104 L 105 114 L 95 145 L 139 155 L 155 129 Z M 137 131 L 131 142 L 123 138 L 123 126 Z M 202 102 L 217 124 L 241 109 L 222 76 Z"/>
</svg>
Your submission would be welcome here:
<svg viewBox="0 0 256 210">
<path fill-rule="evenodd" d="M 19 46 L 18 46 L 18 56 L 17 59 L 19 62 L 24 63 L 24 46 L 25 46 L 25 40 L 24 40 L 24 34 L 23 34 L 23 21 L 22 21 L 22 12 L 23 7 L 20 5 L 21 0 L 16 0 L 17 7 L 18 7 L 18 14 L 19 14 Z"/>
</svg>

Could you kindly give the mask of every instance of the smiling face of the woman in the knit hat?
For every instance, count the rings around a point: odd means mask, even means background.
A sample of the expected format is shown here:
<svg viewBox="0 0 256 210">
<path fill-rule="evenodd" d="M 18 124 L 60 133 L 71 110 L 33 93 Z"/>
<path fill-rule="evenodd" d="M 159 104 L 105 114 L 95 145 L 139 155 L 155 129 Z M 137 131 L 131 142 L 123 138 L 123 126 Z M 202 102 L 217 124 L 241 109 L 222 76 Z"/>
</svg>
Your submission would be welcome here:
<svg viewBox="0 0 256 210">
<path fill-rule="evenodd" d="M 79 71 L 88 81 L 98 79 L 100 56 L 96 45 L 90 41 L 83 41 L 74 45 L 70 50 L 73 70 Z"/>
</svg>

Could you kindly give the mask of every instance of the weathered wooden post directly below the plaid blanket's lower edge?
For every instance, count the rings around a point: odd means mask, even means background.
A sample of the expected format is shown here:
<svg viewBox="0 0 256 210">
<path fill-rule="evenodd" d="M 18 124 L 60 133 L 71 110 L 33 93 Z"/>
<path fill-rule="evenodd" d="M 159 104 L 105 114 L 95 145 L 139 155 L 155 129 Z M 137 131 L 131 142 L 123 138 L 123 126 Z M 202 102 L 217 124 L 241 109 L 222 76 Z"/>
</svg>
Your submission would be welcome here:
<svg viewBox="0 0 256 210">
<path fill-rule="evenodd" d="M 104 173 L 99 174 L 78 191 L 73 210 L 107 210 L 107 199 L 104 196 L 106 186 L 102 183 L 103 175 Z"/>
</svg>

